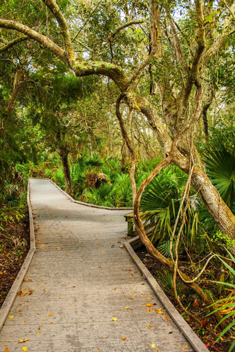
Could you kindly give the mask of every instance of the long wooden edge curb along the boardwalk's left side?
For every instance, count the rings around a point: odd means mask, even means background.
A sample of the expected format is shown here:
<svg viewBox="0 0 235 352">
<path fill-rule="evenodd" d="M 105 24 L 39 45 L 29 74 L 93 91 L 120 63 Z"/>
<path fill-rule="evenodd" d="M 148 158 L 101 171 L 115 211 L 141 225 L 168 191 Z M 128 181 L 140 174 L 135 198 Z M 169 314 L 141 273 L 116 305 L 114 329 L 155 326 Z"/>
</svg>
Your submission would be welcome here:
<svg viewBox="0 0 235 352">
<path fill-rule="evenodd" d="M 8 317 L 9 311 L 12 307 L 15 297 L 17 296 L 17 293 L 19 292 L 20 286 L 23 282 L 23 278 L 25 277 L 26 272 L 28 271 L 28 267 L 30 266 L 32 257 L 35 254 L 35 228 L 33 225 L 32 208 L 30 204 L 30 182 L 28 182 L 28 189 L 27 189 L 27 204 L 28 204 L 28 216 L 29 216 L 29 226 L 30 226 L 30 250 L 28 251 L 26 259 L 24 260 L 19 273 L 14 283 L 12 284 L 11 289 L 8 292 L 8 295 L 6 296 L 5 301 L 3 302 L 3 305 L 1 306 L 0 331 L 1 331 L 1 328 L 3 327 L 3 324 L 6 318 Z"/>
</svg>

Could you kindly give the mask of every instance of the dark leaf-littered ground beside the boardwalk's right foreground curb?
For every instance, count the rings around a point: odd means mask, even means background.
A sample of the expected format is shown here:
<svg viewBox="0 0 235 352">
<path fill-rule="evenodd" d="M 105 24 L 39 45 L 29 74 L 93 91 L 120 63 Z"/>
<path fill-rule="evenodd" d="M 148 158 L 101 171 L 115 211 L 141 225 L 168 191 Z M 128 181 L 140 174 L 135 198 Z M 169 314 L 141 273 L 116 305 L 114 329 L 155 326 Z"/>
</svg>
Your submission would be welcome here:
<svg viewBox="0 0 235 352">
<path fill-rule="evenodd" d="M 220 335 L 221 331 L 217 329 L 214 331 L 216 335 L 212 335 L 212 333 L 209 333 L 207 331 L 206 327 L 208 327 L 210 330 L 213 331 L 214 326 L 216 326 L 216 320 L 212 315 L 209 315 L 206 317 L 207 313 L 209 313 L 209 309 L 205 309 L 205 304 L 200 302 L 200 297 L 198 297 L 195 293 L 191 293 L 188 297 L 185 297 L 185 292 L 189 292 L 189 288 L 184 286 L 183 284 L 180 284 L 178 286 L 180 287 L 180 296 L 184 296 L 185 300 L 182 300 L 182 304 L 187 308 L 188 311 L 196 315 L 198 319 L 200 320 L 201 324 L 198 324 L 195 320 L 193 320 L 191 317 L 186 315 L 185 313 L 182 313 L 182 309 L 178 306 L 178 302 L 176 301 L 176 298 L 173 296 L 173 287 L 171 286 L 171 276 L 168 276 L 166 273 L 166 269 L 162 264 L 154 260 L 146 251 L 145 248 L 140 247 L 136 250 L 136 253 L 138 254 L 138 257 L 140 257 L 140 260 L 144 263 L 144 265 L 149 269 L 153 277 L 156 279 L 158 284 L 160 284 L 162 290 L 164 293 L 169 297 L 169 300 L 171 300 L 172 304 L 178 309 L 182 317 L 187 321 L 189 326 L 191 326 L 191 329 L 194 330 L 194 332 L 198 335 L 198 337 L 205 343 L 207 346 L 207 349 L 212 352 L 227 352 L 229 351 L 229 347 L 231 346 L 233 340 L 230 338 L 220 338 L 220 340 L 214 344 L 214 341 L 216 341 L 216 338 Z M 162 273 L 164 273 L 162 275 Z M 168 277 L 167 277 L 168 276 Z M 162 279 L 163 277 L 163 279 Z M 162 282 L 164 280 L 164 283 Z M 205 287 L 206 288 L 206 287 Z M 211 289 L 211 287 L 208 287 L 207 289 Z"/>
</svg>

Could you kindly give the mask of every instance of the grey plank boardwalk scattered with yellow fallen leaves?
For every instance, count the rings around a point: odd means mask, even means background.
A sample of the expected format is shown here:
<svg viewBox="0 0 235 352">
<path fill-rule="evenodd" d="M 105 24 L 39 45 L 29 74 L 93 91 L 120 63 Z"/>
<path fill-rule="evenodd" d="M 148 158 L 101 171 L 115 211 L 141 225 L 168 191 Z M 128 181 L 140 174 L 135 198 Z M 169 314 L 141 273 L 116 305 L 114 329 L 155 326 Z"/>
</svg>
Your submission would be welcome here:
<svg viewBox="0 0 235 352">
<path fill-rule="evenodd" d="M 194 351 L 120 247 L 124 211 L 75 204 L 44 179 L 30 197 L 37 250 L 0 352 Z"/>
</svg>

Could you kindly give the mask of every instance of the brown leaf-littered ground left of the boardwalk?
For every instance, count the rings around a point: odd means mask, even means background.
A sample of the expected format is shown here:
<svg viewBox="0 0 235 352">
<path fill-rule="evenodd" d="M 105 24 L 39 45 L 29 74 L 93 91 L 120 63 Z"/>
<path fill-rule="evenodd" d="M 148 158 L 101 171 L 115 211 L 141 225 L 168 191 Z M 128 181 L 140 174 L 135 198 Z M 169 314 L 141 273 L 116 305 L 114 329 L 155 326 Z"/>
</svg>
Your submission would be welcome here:
<svg viewBox="0 0 235 352">
<path fill-rule="evenodd" d="M 29 249 L 28 212 L 0 229 L 0 307 L 19 273 Z"/>
</svg>

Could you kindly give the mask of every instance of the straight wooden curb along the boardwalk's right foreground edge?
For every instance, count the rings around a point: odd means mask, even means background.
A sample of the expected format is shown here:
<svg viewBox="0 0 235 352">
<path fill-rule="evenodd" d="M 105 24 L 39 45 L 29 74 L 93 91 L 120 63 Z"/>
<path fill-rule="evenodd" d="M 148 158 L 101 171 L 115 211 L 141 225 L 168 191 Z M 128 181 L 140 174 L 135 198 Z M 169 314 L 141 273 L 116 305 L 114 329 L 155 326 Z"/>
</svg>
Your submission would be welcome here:
<svg viewBox="0 0 235 352">
<path fill-rule="evenodd" d="M 147 282 L 149 282 L 151 288 L 153 291 L 156 293 L 156 296 L 164 306 L 164 308 L 167 310 L 167 313 L 171 316 L 171 319 L 173 322 L 176 323 L 180 331 L 185 335 L 187 340 L 190 342 L 191 346 L 194 347 L 196 352 L 209 352 L 205 344 L 198 338 L 196 333 L 191 329 L 189 324 L 184 320 L 184 318 L 180 315 L 180 313 L 177 311 L 177 309 L 173 306 L 167 295 L 162 291 L 160 285 L 156 281 L 156 279 L 153 277 L 153 275 L 150 273 L 150 271 L 147 269 L 147 267 L 144 265 L 144 263 L 140 260 L 138 255 L 135 253 L 133 250 L 131 244 L 134 244 L 136 242 L 140 241 L 139 236 L 135 236 L 129 241 L 124 242 L 124 246 L 126 247 L 126 250 L 129 252 L 129 255 L 131 255 L 131 258 L 135 262 L 135 264 L 138 266 L 140 271 L 142 272 L 142 275 L 146 278 Z"/>
</svg>

